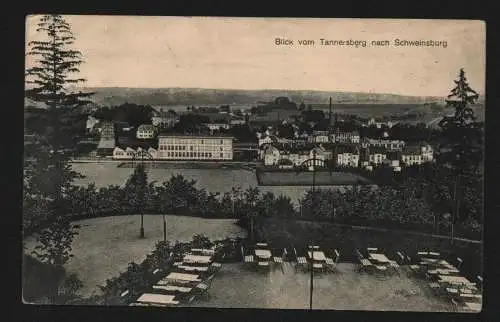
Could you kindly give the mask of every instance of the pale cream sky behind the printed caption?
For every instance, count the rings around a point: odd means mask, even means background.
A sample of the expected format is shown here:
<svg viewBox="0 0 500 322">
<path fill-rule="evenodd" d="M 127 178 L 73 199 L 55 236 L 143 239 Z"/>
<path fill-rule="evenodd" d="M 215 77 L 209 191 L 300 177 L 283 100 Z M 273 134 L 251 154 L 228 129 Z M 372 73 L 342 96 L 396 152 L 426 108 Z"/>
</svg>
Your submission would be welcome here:
<svg viewBox="0 0 500 322">
<path fill-rule="evenodd" d="M 26 19 L 26 43 L 39 39 Z M 481 21 L 319 18 L 65 16 L 87 87 L 198 87 L 449 94 L 460 68 L 485 87 Z M 277 45 L 276 38 L 293 40 Z M 321 45 L 320 39 L 367 46 Z M 298 40 L 315 44 L 299 45 Z M 397 46 L 395 39 L 446 41 Z M 389 46 L 372 41 L 388 40 Z M 28 48 L 28 47 L 27 47 Z M 26 65 L 32 66 L 32 56 Z"/>
</svg>

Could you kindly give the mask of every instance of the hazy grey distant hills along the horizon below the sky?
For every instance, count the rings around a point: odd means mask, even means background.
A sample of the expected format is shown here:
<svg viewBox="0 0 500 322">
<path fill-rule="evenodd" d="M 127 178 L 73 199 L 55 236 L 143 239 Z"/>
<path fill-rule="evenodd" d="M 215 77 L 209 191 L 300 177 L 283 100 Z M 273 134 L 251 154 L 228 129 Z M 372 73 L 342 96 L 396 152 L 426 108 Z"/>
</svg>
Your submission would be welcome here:
<svg viewBox="0 0 500 322">
<path fill-rule="evenodd" d="M 289 91 L 289 90 L 228 90 L 201 88 L 87 88 L 95 92 L 93 100 L 99 105 L 120 105 L 125 102 L 141 105 L 256 105 L 286 96 L 294 102 L 327 103 L 384 103 L 418 104 L 442 102 L 441 97 L 416 97 L 395 94 Z"/>
</svg>

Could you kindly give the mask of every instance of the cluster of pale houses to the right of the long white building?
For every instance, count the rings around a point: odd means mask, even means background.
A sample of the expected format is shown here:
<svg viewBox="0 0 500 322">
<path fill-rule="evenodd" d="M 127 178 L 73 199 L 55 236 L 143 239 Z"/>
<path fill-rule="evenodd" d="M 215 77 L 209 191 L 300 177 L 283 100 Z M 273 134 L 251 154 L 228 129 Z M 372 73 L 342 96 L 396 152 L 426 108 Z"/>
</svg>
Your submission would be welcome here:
<svg viewBox="0 0 500 322">
<path fill-rule="evenodd" d="M 341 167 L 363 167 L 373 169 L 374 166 L 382 164 L 390 165 L 395 171 L 400 171 L 401 166 L 420 165 L 433 161 L 432 147 L 426 143 L 405 146 L 401 150 L 388 150 L 384 147 L 358 147 L 355 145 L 337 145 L 334 149 L 326 149 L 323 145 L 304 149 L 279 149 L 268 145 L 264 148 L 262 159 L 266 166 L 300 166 L 306 160 L 315 158 L 319 165 L 325 164 L 327 160 L 334 160 Z"/>
</svg>

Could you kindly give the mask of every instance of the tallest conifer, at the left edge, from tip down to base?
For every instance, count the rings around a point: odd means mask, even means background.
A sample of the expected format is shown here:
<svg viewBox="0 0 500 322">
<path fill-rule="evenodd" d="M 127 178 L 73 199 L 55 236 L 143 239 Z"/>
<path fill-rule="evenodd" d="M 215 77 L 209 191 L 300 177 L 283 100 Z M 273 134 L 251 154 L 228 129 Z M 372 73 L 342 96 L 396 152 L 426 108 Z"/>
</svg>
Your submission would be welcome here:
<svg viewBox="0 0 500 322">
<path fill-rule="evenodd" d="M 49 191 L 46 195 L 52 207 L 46 228 L 38 234 L 38 257 L 45 262 L 62 267 L 71 257 L 71 243 L 75 231 L 64 209 L 64 188 L 75 174 L 68 171 L 68 149 L 74 147 L 72 130 L 76 109 L 86 104 L 92 93 L 73 91 L 70 86 L 85 81 L 75 77 L 83 63 L 82 54 L 71 49 L 75 38 L 70 25 L 60 15 L 41 16 L 36 29 L 40 40 L 28 43 L 28 56 L 36 57 L 33 66 L 26 70 L 27 98 L 45 103 L 48 107 L 49 124 L 41 149 L 34 152 L 35 159 L 49 162 Z M 37 155 L 38 154 L 38 155 Z M 25 172 L 26 174 L 29 171 Z M 28 180 L 29 181 L 29 180 Z"/>
</svg>

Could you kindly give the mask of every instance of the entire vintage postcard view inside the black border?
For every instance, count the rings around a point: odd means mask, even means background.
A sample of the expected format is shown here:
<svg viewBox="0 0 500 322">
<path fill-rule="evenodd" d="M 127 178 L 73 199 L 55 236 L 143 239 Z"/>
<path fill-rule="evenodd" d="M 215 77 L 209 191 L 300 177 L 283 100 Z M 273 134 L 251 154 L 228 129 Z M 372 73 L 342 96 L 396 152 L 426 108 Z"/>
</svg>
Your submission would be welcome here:
<svg viewBox="0 0 500 322">
<path fill-rule="evenodd" d="M 484 21 L 25 23 L 23 303 L 481 311 Z"/>
</svg>

